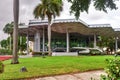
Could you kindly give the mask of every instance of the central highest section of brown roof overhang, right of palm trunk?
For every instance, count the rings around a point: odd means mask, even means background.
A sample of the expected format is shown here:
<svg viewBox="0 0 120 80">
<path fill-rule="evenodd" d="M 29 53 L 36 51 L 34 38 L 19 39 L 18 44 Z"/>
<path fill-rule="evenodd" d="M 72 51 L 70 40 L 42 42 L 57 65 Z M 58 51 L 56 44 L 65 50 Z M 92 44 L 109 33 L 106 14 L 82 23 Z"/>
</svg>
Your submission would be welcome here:
<svg viewBox="0 0 120 80">
<path fill-rule="evenodd" d="M 66 21 L 58 21 L 56 20 L 51 25 L 52 31 L 59 33 L 66 33 L 66 30 L 69 33 L 80 33 L 80 34 L 88 34 L 89 29 L 88 25 L 81 20 L 70 19 Z M 86 33 L 85 33 L 86 32 Z"/>
</svg>

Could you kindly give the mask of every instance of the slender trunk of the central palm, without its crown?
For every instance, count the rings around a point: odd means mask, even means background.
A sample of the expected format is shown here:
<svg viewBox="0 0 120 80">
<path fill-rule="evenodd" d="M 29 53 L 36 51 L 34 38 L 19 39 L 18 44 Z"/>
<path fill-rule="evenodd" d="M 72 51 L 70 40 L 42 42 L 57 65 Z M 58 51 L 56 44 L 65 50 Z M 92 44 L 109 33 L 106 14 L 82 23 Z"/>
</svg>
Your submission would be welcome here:
<svg viewBox="0 0 120 80">
<path fill-rule="evenodd" d="M 51 56 L 51 22 L 48 20 L 48 54 Z"/>
</svg>

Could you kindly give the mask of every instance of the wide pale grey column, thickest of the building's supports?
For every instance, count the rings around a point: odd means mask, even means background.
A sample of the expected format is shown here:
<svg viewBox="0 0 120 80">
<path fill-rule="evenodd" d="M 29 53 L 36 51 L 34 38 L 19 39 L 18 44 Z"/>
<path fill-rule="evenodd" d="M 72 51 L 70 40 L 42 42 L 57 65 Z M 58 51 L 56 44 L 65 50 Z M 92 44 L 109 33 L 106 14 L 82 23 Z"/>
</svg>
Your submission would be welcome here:
<svg viewBox="0 0 120 80">
<path fill-rule="evenodd" d="M 34 51 L 40 52 L 40 33 L 39 33 L 39 31 L 37 31 L 34 36 Z"/>
</svg>

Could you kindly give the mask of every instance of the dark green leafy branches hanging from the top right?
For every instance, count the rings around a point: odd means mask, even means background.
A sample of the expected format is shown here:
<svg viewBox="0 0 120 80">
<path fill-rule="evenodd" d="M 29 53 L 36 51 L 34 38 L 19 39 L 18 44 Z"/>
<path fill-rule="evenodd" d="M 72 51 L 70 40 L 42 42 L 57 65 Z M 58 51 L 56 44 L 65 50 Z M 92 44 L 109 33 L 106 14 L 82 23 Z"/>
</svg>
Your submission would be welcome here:
<svg viewBox="0 0 120 80">
<path fill-rule="evenodd" d="M 115 1 L 118 0 L 68 0 L 68 2 L 72 3 L 70 12 L 73 13 L 77 19 L 79 18 L 81 12 L 88 13 L 91 3 L 93 3 L 96 10 L 104 12 L 107 12 L 107 8 L 116 10 L 117 7 Z"/>
</svg>

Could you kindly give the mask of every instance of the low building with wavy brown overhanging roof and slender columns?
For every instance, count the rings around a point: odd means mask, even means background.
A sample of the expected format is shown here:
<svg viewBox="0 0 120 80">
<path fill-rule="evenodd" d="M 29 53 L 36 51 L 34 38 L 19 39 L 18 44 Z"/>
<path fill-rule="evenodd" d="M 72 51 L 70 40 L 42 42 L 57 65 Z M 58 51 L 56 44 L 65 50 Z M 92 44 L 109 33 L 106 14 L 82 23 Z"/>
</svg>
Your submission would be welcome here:
<svg viewBox="0 0 120 80">
<path fill-rule="evenodd" d="M 34 52 L 44 52 L 47 51 L 47 27 L 47 20 L 30 20 L 28 26 L 19 26 L 19 34 L 27 36 L 27 42 L 33 42 Z M 98 36 L 118 38 L 119 34 L 119 29 L 114 30 L 110 24 L 88 25 L 80 19 L 55 19 L 51 23 L 51 46 L 52 49 L 66 47 L 67 52 L 70 47 L 89 47 L 90 44 L 96 48 Z"/>
</svg>

